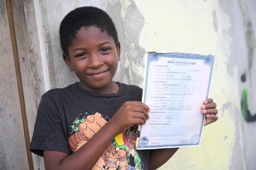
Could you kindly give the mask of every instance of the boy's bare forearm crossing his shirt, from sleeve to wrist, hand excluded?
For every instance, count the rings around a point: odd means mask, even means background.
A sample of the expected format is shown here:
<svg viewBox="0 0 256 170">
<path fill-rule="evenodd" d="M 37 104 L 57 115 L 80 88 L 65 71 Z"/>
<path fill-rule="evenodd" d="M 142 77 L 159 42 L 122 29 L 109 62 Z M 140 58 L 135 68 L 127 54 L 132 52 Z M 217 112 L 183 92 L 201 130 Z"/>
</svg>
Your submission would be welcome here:
<svg viewBox="0 0 256 170">
<path fill-rule="evenodd" d="M 55 150 L 44 150 L 46 170 L 92 169 L 115 135 L 115 129 L 112 128 L 111 123 L 107 123 L 86 144 L 70 156 Z"/>
</svg>

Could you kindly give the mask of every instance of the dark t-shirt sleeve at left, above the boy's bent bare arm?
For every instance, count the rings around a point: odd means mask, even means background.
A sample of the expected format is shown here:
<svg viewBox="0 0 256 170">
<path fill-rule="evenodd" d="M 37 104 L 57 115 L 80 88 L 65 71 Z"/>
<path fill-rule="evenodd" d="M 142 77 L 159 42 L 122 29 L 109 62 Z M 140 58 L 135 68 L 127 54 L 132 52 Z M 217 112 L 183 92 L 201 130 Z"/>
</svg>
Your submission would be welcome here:
<svg viewBox="0 0 256 170">
<path fill-rule="evenodd" d="M 68 141 L 65 137 L 63 118 L 56 101 L 44 94 L 37 111 L 34 134 L 30 151 L 43 156 L 43 150 L 56 150 L 70 154 Z"/>
</svg>

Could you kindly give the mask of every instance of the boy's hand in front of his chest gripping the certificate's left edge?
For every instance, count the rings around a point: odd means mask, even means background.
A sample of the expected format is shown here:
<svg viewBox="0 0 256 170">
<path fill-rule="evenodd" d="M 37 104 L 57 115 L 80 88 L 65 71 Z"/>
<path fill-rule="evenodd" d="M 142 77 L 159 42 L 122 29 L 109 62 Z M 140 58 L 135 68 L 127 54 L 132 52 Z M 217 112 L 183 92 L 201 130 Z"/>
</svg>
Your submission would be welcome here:
<svg viewBox="0 0 256 170">
<path fill-rule="evenodd" d="M 149 119 L 149 106 L 140 101 L 126 101 L 110 119 L 117 134 L 135 124 L 143 125 Z"/>
</svg>

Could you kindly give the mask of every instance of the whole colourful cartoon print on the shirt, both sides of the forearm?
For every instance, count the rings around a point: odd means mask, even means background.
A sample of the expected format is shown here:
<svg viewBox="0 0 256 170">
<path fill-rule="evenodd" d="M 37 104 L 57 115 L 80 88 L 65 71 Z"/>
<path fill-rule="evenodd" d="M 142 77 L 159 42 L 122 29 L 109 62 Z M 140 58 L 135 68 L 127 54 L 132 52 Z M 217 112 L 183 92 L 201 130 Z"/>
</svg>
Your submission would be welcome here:
<svg viewBox="0 0 256 170">
<path fill-rule="evenodd" d="M 107 120 L 109 118 L 107 116 L 103 118 L 100 113 L 92 115 L 88 113 L 85 113 L 85 115 L 80 114 L 70 125 L 70 134 L 72 134 L 69 137 L 70 149 L 76 152 L 107 123 Z M 130 127 L 124 133 L 118 134 L 92 169 L 141 170 L 143 163 L 135 149 L 138 134 L 137 126 Z"/>
</svg>

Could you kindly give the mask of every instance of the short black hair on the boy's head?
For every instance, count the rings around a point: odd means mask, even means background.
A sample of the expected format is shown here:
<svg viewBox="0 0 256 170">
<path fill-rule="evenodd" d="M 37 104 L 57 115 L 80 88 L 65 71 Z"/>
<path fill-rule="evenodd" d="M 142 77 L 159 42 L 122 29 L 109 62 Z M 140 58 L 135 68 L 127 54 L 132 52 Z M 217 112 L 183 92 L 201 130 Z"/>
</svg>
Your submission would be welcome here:
<svg viewBox="0 0 256 170">
<path fill-rule="evenodd" d="M 60 23 L 60 45 L 63 53 L 68 56 L 68 46 L 81 27 L 96 26 L 106 31 L 118 44 L 116 27 L 110 16 L 97 7 L 79 7 L 70 11 Z"/>
</svg>

